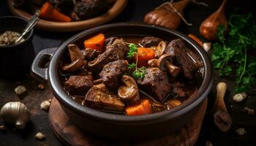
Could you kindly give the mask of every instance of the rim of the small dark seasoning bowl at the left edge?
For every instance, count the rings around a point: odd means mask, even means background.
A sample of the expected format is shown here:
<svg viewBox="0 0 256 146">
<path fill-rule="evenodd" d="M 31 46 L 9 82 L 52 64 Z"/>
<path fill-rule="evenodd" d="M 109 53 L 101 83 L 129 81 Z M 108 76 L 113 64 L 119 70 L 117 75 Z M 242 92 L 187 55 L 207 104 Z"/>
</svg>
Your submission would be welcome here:
<svg viewBox="0 0 256 146">
<path fill-rule="evenodd" d="M 26 20 L 25 18 L 20 18 L 18 16 L 2 16 L 2 17 L 0 17 L 0 20 L 4 19 L 4 18 L 11 18 L 11 19 L 14 19 L 14 20 L 15 19 L 20 19 L 20 20 L 23 20 L 26 23 L 29 23 L 29 20 Z M 12 31 L 12 30 L 10 30 L 10 31 Z M 22 32 L 20 32 L 20 34 L 21 33 Z M 20 43 L 15 44 L 15 45 L 0 46 L 0 49 L 7 49 L 7 48 L 10 48 L 10 47 L 17 47 L 17 46 L 23 45 L 23 44 L 25 44 L 26 42 L 28 42 L 31 39 L 33 34 L 34 34 L 34 28 L 31 28 L 28 37 L 26 37 L 26 39 L 23 42 L 20 42 Z"/>
</svg>

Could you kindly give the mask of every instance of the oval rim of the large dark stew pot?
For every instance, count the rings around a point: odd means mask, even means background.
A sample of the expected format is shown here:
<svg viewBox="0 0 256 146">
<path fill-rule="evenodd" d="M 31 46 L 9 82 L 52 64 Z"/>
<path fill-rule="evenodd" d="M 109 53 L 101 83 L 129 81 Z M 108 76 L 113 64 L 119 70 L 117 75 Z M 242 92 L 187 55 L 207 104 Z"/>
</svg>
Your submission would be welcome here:
<svg viewBox="0 0 256 146">
<path fill-rule="evenodd" d="M 101 112 L 98 110 L 94 110 L 90 107 L 80 105 L 77 102 L 75 102 L 73 99 L 70 98 L 67 92 L 64 91 L 64 88 L 59 82 L 58 68 L 59 68 L 59 59 L 61 58 L 62 53 L 64 53 L 65 48 L 70 42 L 73 42 L 74 40 L 79 39 L 81 36 L 83 36 L 83 34 L 93 34 L 100 30 L 104 30 L 105 28 L 113 28 L 113 27 L 143 27 L 143 28 L 159 29 L 161 31 L 167 31 L 168 33 L 171 33 L 176 37 L 184 39 L 187 43 L 189 43 L 189 45 L 191 45 L 192 47 L 195 47 L 195 50 L 200 55 L 200 58 L 202 58 L 202 61 L 204 64 L 203 82 L 201 83 L 200 88 L 198 88 L 196 93 L 190 96 L 189 99 L 184 101 L 184 103 L 178 107 L 174 107 L 173 109 L 170 109 L 170 110 L 156 112 L 149 115 L 140 115 L 140 116 L 132 116 L 132 117 L 127 115 L 116 115 L 116 114 L 111 114 L 107 112 Z M 154 26 L 154 25 L 143 24 L 143 23 L 111 23 L 108 25 L 90 28 L 86 31 L 82 31 L 76 34 L 74 37 L 69 38 L 66 42 L 64 42 L 59 47 L 58 50 L 56 50 L 53 57 L 51 58 L 48 74 L 49 74 L 48 83 L 50 85 L 50 88 L 53 91 L 53 95 L 56 97 L 56 99 L 58 99 L 58 101 L 62 104 L 62 106 L 68 108 L 69 110 L 74 111 L 78 115 L 86 115 L 86 116 L 90 116 L 91 118 L 100 119 L 100 120 L 108 120 L 108 121 L 115 120 L 123 123 L 124 122 L 137 123 L 139 121 L 143 121 L 143 122 L 147 121 L 149 123 L 154 123 L 159 120 L 164 120 L 167 117 L 176 118 L 180 115 L 183 115 L 189 110 L 197 107 L 197 105 L 200 104 L 203 101 L 203 99 L 206 98 L 206 96 L 208 96 L 208 93 L 211 91 L 211 86 L 213 84 L 211 61 L 206 51 L 203 50 L 203 48 L 200 47 L 200 45 L 197 45 L 195 41 L 193 41 L 186 35 L 181 34 L 178 31 L 173 31 L 173 30 L 170 30 L 169 28 L 164 28 L 162 26 Z"/>
</svg>

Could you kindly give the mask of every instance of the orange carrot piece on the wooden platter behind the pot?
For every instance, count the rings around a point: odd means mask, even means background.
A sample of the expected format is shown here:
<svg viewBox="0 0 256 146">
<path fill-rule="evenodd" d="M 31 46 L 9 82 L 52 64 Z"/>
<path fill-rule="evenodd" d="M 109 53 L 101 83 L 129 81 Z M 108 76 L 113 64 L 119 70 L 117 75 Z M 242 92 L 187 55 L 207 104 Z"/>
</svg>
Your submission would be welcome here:
<svg viewBox="0 0 256 146">
<path fill-rule="evenodd" d="M 40 9 L 39 18 L 42 18 L 45 20 L 57 21 L 57 22 L 70 22 L 71 21 L 71 18 L 69 18 L 69 16 L 64 15 L 63 13 L 59 12 L 49 2 L 45 2 L 45 4 L 42 5 L 42 7 Z"/>
</svg>

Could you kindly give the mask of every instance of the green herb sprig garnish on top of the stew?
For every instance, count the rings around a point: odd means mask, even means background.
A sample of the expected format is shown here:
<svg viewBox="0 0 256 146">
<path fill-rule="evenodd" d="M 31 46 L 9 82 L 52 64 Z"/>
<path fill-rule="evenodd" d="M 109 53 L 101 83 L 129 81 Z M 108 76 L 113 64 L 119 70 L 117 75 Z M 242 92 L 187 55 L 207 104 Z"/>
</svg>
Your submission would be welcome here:
<svg viewBox="0 0 256 146">
<path fill-rule="evenodd" d="M 135 45 L 134 43 L 129 43 L 129 53 L 127 55 L 127 58 L 133 58 L 135 54 L 136 62 L 132 62 L 132 64 L 129 64 L 128 69 L 134 69 L 134 71 L 132 72 L 132 77 L 135 77 L 136 79 L 143 79 L 146 74 L 146 67 L 138 67 L 138 45 Z"/>
</svg>

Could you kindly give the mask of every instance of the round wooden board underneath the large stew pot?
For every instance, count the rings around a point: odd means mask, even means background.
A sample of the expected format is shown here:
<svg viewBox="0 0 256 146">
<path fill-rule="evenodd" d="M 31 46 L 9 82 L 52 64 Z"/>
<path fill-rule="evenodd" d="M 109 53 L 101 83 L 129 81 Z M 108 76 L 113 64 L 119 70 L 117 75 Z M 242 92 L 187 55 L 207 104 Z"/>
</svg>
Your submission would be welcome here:
<svg viewBox="0 0 256 146">
<path fill-rule="evenodd" d="M 197 141 L 200 134 L 200 129 L 203 123 L 203 117 L 206 113 L 207 99 L 203 101 L 200 109 L 196 113 L 192 121 L 187 123 L 184 128 L 179 129 L 173 134 L 165 137 L 144 140 L 144 141 L 129 141 L 121 142 L 118 139 L 103 139 L 100 137 L 92 136 L 91 134 L 83 131 L 78 126 L 75 126 L 65 112 L 61 109 L 59 102 L 53 98 L 49 110 L 49 122 L 56 137 L 64 142 L 66 145 L 136 145 L 136 146 L 192 146 Z"/>
</svg>

